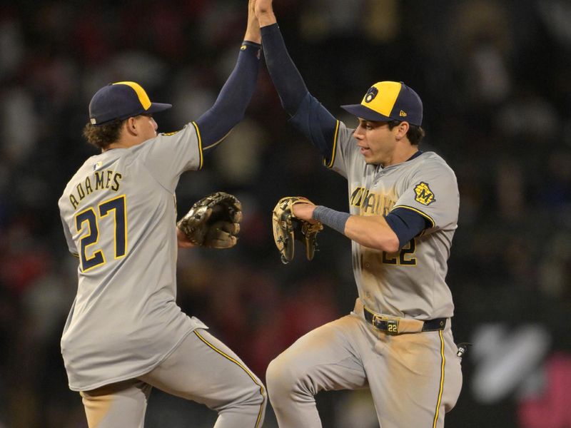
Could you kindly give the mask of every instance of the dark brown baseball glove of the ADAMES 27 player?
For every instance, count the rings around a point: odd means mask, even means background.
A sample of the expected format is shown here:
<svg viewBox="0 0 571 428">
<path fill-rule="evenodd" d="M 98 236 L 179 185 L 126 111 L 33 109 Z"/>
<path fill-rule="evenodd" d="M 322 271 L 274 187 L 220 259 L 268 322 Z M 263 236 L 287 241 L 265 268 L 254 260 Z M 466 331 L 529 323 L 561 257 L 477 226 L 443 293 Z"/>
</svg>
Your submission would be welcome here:
<svg viewBox="0 0 571 428">
<path fill-rule="evenodd" d="M 236 197 L 216 192 L 198 200 L 176 223 L 191 243 L 208 248 L 231 248 L 236 245 L 242 204 Z"/>
</svg>

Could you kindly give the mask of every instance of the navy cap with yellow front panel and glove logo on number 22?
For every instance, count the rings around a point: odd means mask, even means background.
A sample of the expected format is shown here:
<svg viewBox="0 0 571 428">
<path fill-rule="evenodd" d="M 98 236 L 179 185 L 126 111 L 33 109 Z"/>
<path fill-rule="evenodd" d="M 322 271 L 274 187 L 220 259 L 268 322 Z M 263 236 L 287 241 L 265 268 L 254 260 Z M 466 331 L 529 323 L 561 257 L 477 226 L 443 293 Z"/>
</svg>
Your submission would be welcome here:
<svg viewBox="0 0 571 428">
<path fill-rule="evenodd" d="M 360 104 L 341 106 L 365 121 L 423 123 L 423 101 L 403 82 L 378 82 L 369 88 Z"/>
</svg>

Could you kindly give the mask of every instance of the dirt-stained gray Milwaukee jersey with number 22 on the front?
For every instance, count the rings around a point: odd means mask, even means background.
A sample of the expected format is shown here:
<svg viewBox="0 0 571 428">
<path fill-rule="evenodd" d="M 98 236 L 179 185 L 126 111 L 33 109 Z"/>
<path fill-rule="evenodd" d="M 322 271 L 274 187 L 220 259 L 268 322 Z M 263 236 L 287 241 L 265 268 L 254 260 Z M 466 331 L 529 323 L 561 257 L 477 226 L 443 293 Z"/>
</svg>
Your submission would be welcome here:
<svg viewBox="0 0 571 428">
<path fill-rule="evenodd" d="M 370 310 L 386 315 L 418 320 L 452 317 L 454 305 L 445 276 L 460 200 L 453 170 L 432 152 L 386 168 L 368 165 L 353 130 L 342 122 L 333 150 L 328 166 L 347 178 L 351 214 L 387 215 L 394 208 L 407 208 L 430 224 L 397 253 L 353 241 L 353 271 L 361 300 Z"/>
</svg>

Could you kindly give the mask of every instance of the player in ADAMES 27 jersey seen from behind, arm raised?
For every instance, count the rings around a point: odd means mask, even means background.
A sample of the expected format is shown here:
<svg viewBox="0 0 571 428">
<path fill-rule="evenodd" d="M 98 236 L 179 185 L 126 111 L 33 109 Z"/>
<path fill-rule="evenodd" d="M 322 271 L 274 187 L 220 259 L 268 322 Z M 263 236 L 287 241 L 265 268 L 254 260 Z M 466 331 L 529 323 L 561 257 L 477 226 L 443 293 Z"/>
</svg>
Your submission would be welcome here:
<svg viewBox="0 0 571 428">
<path fill-rule="evenodd" d="M 79 284 L 61 337 L 69 387 L 89 427 L 143 427 L 152 387 L 206 404 L 217 428 L 261 427 L 266 391 L 208 327 L 176 305 L 175 189 L 243 118 L 258 75 L 260 29 L 248 7 L 238 61 L 216 103 L 176 133 L 158 133 L 153 103 L 131 81 L 95 93 L 84 136 L 101 148 L 59 199 Z"/>
</svg>

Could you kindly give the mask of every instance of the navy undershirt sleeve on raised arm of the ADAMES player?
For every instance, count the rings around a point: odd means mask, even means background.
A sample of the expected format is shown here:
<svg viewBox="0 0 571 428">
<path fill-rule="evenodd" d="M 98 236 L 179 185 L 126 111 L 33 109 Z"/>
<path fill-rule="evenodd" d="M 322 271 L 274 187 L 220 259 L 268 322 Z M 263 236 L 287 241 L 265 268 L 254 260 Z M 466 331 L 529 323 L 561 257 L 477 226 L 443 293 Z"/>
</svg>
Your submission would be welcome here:
<svg viewBox="0 0 571 428">
<path fill-rule="evenodd" d="M 260 49 L 257 43 L 243 41 L 236 66 L 216 102 L 196 119 L 205 153 L 216 147 L 243 119 L 258 80 Z"/>
</svg>

